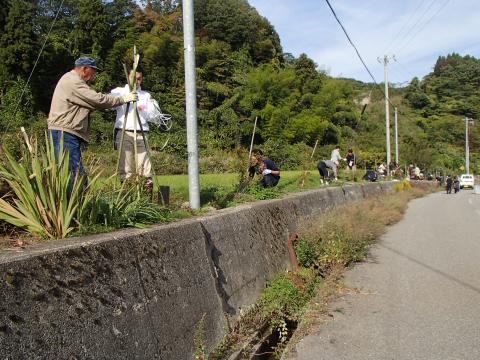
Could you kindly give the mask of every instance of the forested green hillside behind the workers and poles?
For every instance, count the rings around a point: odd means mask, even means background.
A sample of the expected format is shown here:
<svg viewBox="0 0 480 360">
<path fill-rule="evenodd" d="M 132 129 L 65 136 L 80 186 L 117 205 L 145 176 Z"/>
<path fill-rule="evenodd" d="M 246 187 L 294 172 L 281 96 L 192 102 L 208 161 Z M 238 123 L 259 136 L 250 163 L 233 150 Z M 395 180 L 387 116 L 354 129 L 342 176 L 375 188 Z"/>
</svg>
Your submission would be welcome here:
<svg viewBox="0 0 480 360">
<path fill-rule="evenodd" d="M 144 71 L 142 87 L 174 118 L 167 147 L 155 155 L 157 173 L 184 171 L 180 2 L 150 0 L 139 6 L 133 0 L 65 0 L 25 87 L 60 3 L 0 0 L 2 145 L 18 147 L 20 126 L 30 134 L 43 134 L 55 84 L 75 58 L 90 55 L 98 59 L 104 71 L 98 74 L 94 87 L 108 92 L 124 83 L 122 63 L 129 64 L 136 44 Z M 246 0 L 196 0 L 195 27 L 203 171 L 233 170 L 234 154 L 249 146 L 255 117 L 256 146 L 284 169 L 307 166 L 317 139 L 320 148 L 315 159 L 327 156 L 333 144 L 340 144 L 344 149 L 353 147 L 362 164 L 384 161 L 380 87 L 332 78 L 318 71 L 308 55 L 295 58 L 284 53 L 273 26 Z M 479 60 L 448 55 L 438 59 L 425 79 L 413 79 L 407 88 L 391 90 L 392 102 L 400 111 L 402 163 L 460 171 L 464 156 L 462 118 L 478 117 L 479 79 Z M 370 103 L 362 113 L 365 99 Z M 116 156 L 111 150 L 113 115 L 111 111 L 93 113 L 89 147 L 90 152 L 110 159 Z M 477 153 L 479 127 L 471 127 L 471 149 Z M 163 144 L 166 137 L 160 130 L 154 131 L 153 147 Z M 478 157 L 471 162 L 478 169 Z"/>
</svg>

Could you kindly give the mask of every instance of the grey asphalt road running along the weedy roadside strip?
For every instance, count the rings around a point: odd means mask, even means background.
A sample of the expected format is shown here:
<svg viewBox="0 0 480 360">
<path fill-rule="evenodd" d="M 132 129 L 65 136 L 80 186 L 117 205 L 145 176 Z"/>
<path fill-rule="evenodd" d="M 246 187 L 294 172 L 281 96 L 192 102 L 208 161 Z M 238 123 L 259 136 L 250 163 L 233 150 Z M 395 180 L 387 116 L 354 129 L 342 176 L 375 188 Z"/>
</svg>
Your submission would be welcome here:
<svg viewBox="0 0 480 360">
<path fill-rule="evenodd" d="M 480 195 L 409 204 L 289 359 L 480 359 Z"/>
</svg>

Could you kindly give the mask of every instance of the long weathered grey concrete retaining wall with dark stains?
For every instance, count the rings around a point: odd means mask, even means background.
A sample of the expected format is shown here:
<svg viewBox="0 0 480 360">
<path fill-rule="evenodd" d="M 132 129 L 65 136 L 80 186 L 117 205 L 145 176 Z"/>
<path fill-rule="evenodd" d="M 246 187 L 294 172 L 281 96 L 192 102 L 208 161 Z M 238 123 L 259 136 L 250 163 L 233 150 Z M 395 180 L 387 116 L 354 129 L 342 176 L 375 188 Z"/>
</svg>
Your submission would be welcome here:
<svg viewBox="0 0 480 360">
<path fill-rule="evenodd" d="M 0 253 L 1 359 L 190 359 L 289 267 L 300 219 L 391 183 L 290 195 L 148 230 Z"/>
</svg>

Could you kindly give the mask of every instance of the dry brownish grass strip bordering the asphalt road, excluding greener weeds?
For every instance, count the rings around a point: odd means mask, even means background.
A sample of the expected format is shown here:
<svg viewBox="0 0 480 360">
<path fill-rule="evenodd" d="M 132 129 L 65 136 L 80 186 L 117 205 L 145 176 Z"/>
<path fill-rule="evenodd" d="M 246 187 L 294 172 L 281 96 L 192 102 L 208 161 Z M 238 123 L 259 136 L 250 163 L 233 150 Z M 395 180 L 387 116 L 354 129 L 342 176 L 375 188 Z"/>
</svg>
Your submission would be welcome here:
<svg viewBox="0 0 480 360">
<path fill-rule="evenodd" d="M 323 255 L 314 266 L 325 278 L 303 313 L 287 351 L 294 349 L 303 337 L 330 319 L 329 303 L 345 291 L 341 283 L 345 267 L 362 260 L 369 245 L 385 232 L 387 226 L 402 218 L 408 202 L 425 193 L 425 190 L 413 188 L 349 204 L 301 225 L 300 233 L 304 241 L 317 254 Z M 338 246 L 342 242 L 343 245 Z"/>
</svg>

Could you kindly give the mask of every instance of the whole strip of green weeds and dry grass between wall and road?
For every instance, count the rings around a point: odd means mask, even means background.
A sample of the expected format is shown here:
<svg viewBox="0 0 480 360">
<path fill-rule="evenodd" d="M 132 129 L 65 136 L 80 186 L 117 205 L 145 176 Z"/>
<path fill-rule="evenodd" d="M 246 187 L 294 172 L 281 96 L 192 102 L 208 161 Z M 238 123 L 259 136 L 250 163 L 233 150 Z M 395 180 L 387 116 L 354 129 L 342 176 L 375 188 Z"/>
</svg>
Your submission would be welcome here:
<svg viewBox="0 0 480 360">
<path fill-rule="evenodd" d="M 286 346 L 286 338 L 282 337 L 284 324 L 294 322 L 305 327 L 308 321 L 303 319 L 309 302 L 315 298 L 315 304 L 324 307 L 342 269 L 364 259 L 369 246 L 386 227 L 401 219 L 408 201 L 424 194 L 417 188 L 399 187 L 396 193 L 348 204 L 303 223 L 295 243 L 301 268 L 275 277 L 211 358 L 227 358 L 262 327 L 279 333 L 280 342 L 274 352 L 280 357 Z"/>
</svg>

